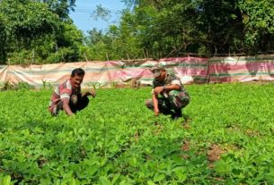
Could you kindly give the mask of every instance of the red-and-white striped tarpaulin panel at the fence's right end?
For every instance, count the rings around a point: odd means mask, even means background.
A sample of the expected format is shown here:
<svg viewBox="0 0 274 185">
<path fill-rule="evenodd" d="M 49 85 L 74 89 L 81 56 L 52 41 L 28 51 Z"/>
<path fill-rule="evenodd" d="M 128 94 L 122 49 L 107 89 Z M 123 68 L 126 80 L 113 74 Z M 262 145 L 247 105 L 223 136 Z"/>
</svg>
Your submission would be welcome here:
<svg viewBox="0 0 274 185">
<path fill-rule="evenodd" d="M 209 59 L 210 82 L 274 80 L 274 56 L 217 57 Z"/>
</svg>

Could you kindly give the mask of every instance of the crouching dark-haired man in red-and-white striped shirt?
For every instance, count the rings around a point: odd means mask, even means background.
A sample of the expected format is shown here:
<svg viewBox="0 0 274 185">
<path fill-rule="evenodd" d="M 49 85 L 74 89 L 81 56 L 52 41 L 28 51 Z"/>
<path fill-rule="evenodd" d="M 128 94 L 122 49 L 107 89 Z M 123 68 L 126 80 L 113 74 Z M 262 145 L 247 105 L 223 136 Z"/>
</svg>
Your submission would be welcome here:
<svg viewBox="0 0 274 185">
<path fill-rule="evenodd" d="M 81 83 L 84 79 L 84 70 L 76 68 L 71 72 L 70 78 L 55 88 L 50 101 L 49 112 L 57 116 L 60 110 L 72 115 L 84 109 L 89 104 L 88 96 L 95 97 L 94 90 L 81 93 Z"/>
</svg>

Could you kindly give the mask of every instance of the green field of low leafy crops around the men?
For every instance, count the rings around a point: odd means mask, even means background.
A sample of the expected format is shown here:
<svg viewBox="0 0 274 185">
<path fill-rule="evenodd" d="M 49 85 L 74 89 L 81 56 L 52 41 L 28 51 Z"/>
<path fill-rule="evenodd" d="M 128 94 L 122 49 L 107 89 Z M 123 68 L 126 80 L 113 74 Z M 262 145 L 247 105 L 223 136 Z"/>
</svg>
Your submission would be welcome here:
<svg viewBox="0 0 274 185">
<path fill-rule="evenodd" d="M 72 117 L 50 116 L 52 90 L 1 92 L 0 184 L 274 184 L 273 83 L 186 88 L 176 121 L 150 88 L 98 89 Z"/>
</svg>

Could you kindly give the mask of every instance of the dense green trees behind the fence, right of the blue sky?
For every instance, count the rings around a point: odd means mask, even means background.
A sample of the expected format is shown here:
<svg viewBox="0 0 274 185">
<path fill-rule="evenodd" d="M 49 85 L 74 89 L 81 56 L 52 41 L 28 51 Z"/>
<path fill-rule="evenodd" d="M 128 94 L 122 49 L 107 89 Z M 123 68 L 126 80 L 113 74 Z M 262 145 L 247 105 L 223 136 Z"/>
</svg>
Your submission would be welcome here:
<svg viewBox="0 0 274 185">
<path fill-rule="evenodd" d="M 113 42 L 103 41 L 112 59 L 273 53 L 272 1 L 124 0 Z M 125 48 L 127 51 L 125 51 Z M 120 51 L 120 55 L 116 55 Z"/>
</svg>

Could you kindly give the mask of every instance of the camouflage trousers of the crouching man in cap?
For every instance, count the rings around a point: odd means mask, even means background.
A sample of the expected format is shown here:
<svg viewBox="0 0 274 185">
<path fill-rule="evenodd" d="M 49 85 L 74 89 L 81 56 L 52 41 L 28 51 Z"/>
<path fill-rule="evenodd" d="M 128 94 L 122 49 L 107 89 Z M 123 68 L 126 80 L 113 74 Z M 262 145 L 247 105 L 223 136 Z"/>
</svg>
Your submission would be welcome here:
<svg viewBox="0 0 274 185">
<path fill-rule="evenodd" d="M 171 114 L 172 111 L 181 111 L 190 103 L 190 95 L 186 91 L 172 90 L 169 92 L 168 97 L 158 97 L 158 108 L 163 114 Z M 146 100 L 146 107 L 154 110 L 152 99 Z"/>
</svg>

